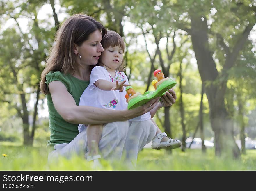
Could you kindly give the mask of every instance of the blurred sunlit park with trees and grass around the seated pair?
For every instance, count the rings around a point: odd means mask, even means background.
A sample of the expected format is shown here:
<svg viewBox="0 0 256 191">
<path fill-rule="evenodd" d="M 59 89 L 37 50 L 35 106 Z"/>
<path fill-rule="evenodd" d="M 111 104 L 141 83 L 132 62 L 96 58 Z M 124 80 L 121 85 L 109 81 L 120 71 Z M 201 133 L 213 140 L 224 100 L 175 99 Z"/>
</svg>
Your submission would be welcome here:
<svg viewBox="0 0 256 191">
<path fill-rule="evenodd" d="M 1 170 L 92 169 L 76 156 L 82 165 L 46 161 L 40 74 L 60 24 L 75 13 L 124 38 L 125 73 L 137 92 L 154 90 L 155 69 L 177 82 L 176 103 L 154 120 L 183 146 L 145 148 L 136 169 L 256 169 L 255 0 L 1 0 L 0 6 Z M 197 149 L 187 148 L 193 138 L 201 140 Z M 105 161 L 102 169 L 128 168 Z"/>
</svg>

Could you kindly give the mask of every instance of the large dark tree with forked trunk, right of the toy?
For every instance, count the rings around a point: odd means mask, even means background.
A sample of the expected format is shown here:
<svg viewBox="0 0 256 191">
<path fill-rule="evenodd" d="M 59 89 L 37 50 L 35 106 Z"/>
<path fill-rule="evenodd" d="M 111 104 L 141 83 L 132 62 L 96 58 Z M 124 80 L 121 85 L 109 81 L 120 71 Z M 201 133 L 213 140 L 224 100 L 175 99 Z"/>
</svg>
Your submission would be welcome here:
<svg viewBox="0 0 256 191">
<path fill-rule="evenodd" d="M 255 6 L 248 1 L 179 1 L 172 8 L 170 4 L 164 5 L 169 6 L 170 15 L 179 20 L 176 25 L 191 35 L 208 98 L 215 153 L 218 156 L 232 153 L 237 158 L 240 152 L 224 96 L 227 72 L 234 67 L 239 52 L 251 43 L 248 35 L 255 25 Z"/>
</svg>

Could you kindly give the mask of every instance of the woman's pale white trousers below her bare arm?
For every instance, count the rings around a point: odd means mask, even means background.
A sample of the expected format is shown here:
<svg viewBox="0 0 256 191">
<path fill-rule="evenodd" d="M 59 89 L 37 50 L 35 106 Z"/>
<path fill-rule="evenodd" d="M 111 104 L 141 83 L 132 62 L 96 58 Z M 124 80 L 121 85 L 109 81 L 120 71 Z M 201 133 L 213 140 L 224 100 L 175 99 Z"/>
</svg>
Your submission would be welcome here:
<svg viewBox="0 0 256 191">
<path fill-rule="evenodd" d="M 142 122 L 112 122 L 104 124 L 99 141 L 101 156 L 107 160 L 137 160 L 138 152 L 149 143 L 156 134 L 157 127 L 151 120 Z M 70 158 L 74 154 L 88 154 L 86 128 L 70 143 L 56 144 L 48 155 L 48 161 L 58 156 Z"/>
</svg>

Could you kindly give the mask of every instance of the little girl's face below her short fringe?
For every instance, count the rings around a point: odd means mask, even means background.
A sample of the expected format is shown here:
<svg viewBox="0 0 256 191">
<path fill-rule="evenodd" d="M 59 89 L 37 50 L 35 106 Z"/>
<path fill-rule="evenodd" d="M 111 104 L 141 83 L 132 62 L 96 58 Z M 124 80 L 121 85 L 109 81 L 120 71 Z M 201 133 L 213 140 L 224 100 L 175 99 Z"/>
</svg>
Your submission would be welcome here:
<svg viewBox="0 0 256 191">
<path fill-rule="evenodd" d="M 123 50 L 121 47 L 108 47 L 102 52 L 100 61 L 106 69 L 115 70 L 123 61 Z"/>
</svg>

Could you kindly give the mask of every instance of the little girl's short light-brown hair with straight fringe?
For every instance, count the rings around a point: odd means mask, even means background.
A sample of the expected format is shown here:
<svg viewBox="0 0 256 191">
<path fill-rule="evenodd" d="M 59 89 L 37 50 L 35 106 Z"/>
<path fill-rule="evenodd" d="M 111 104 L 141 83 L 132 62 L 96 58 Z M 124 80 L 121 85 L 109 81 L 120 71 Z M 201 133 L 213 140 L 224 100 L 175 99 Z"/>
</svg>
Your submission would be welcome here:
<svg viewBox="0 0 256 191">
<path fill-rule="evenodd" d="M 108 47 L 120 47 L 124 53 L 125 51 L 125 42 L 122 37 L 115 31 L 107 30 L 106 35 L 101 40 L 102 47 L 107 49 Z M 122 60 L 121 65 L 117 68 L 118 71 L 123 72 L 125 71 L 125 61 Z M 98 66 L 102 66 L 101 60 L 97 64 Z"/>
</svg>

